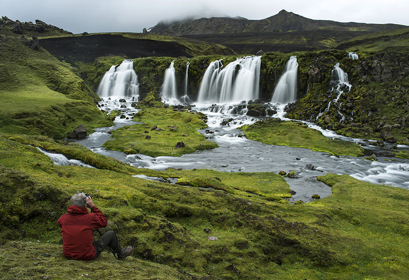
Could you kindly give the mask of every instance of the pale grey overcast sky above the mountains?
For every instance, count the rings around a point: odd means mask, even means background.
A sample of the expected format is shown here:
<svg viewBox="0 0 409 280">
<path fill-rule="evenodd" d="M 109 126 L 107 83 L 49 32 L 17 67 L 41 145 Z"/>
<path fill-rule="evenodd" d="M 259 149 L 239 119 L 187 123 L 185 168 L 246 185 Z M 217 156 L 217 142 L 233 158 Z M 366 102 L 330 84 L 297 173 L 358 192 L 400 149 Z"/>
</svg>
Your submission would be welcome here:
<svg viewBox="0 0 409 280">
<path fill-rule="evenodd" d="M 409 0 L 1 0 L 0 16 L 40 19 L 78 34 L 142 32 L 160 20 L 192 15 L 263 19 L 281 10 L 311 19 L 409 26 Z"/>
</svg>

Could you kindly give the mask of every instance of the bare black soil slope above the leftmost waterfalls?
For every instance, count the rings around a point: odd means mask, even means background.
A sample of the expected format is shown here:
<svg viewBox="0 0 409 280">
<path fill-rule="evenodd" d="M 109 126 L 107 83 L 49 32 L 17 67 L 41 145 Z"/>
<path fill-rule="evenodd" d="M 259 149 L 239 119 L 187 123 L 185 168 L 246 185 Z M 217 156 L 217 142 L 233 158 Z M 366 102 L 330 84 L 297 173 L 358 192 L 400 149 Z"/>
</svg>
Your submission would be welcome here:
<svg viewBox="0 0 409 280">
<path fill-rule="evenodd" d="M 93 62 L 107 55 L 127 58 L 149 56 L 191 57 L 186 48 L 175 42 L 147 39 L 131 39 L 122 35 L 86 35 L 41 39 L 40 45 L 60 60 L 75 64 L 76 61 Z"/>
</svg>

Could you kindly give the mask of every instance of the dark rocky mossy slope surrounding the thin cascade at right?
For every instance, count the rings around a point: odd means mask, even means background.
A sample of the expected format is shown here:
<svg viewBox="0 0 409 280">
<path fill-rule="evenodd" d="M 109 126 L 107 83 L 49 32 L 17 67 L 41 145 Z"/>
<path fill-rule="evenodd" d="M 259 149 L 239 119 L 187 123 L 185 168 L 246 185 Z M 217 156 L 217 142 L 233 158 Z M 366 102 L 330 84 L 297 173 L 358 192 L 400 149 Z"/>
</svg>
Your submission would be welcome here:
<svg viewBox="0 0 409 280">
<path fill-rule="evenodd" d="M 310 76 L 308 93 L 295 103 L 295 107 L 291 108 L 286 116 L 315 121 L 323 128 L 335 130 L 338 134 L 348 137 L 399 143 L 408 141 L 405 127 L 408 125 L 406 99 L 409 94 L 409 80 L 399 74 L 405 72 L 404 66 L 408 57 L 398 53 L 377 54 L 377 57 L 382 58 L 365 56 L 362 53 L 359 55 L 361 57 L 358 60 L 345 56 L 338 61 L 341 69 L 348 74 L 352 88 L 350 91 L 344 88 L 338 103 L 332 103 L 328 112 L 324 110 L 329 102 L 337 97 L 337 93 L 330 91 L 329 78 L 332 68 L 319 66 L 318 69 L 324 70 L 321 74 L 325 77 L 324 80 L 320 84 L 311 83 L 314 77 Z M 375 62 L 376 59 L 379 60 Z M 391 61 L 389 66 L 384 59 Z M 372 65 L 375 67 L 376 63 L 382 64 L 385 74 L 391 72 L 392 78 L 375 81 L 370 75 L 373 71 Z M 365 70 L 362 70 L 365 65 L 370 67 L 368 76 L 364 74 Z M 322 115 L 317 118 L 320 112 Z M 345 116 L 343 122 L 338 121 L 339 112 Z"/>
</svg>

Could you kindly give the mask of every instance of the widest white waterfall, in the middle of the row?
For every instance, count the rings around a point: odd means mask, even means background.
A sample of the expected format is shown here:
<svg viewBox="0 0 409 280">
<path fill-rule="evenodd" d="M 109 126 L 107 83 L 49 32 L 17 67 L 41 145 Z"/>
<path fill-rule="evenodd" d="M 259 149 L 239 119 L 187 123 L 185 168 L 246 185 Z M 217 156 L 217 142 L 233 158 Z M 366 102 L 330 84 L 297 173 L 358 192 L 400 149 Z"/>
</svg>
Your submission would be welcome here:
<svg viewBox="0 0 409 280">
<path fill-rule="evenodd" d="M 213 61 L 200 84 L 197 103 L 240 103 L 259 97 L 261 56 L 239 57 L 223 67 Z"/>
</svg>

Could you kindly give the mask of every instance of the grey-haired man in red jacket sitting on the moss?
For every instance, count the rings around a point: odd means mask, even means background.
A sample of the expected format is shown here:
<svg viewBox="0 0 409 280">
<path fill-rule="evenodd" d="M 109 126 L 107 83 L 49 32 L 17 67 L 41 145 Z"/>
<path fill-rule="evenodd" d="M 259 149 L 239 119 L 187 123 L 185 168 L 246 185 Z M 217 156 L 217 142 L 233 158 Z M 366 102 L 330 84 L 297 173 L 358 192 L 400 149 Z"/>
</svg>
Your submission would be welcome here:
<svg viewBox="0 0 409 280">
<path fill-rule="evenodd" d="M 107 227 L 107 217 L 94 205 L 90 196 L 84 192 L 77 192 L 72 195 L 71 204 L 67 213 L 58 219 L 64 256 L 69 259 L 91 261 L 98 258 L 107 246 L 121 261 L 132 253 L 132 246 L 123 248 L 112 230 L 94 242 L 92 229 Z M 91 209 L 90 213 L 87 207 Z"/>
</svg>

